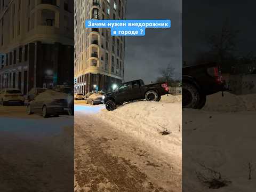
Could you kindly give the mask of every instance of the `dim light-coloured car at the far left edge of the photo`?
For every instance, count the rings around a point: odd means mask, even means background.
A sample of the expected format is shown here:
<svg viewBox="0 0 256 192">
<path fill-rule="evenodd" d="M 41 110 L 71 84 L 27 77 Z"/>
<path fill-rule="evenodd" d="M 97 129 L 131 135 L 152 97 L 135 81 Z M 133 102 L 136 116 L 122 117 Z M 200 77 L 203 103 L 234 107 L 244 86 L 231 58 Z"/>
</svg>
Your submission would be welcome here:
<svg viewBox="0 0 256 192">
<path fill-rule="evenodd" d="M 0 102 L 1 105 L 6 105 L 7 103 L 20 103 L 24 105 L 25 98 L 18 89 L 3 89 L 0 91 Z"/>
</svg>

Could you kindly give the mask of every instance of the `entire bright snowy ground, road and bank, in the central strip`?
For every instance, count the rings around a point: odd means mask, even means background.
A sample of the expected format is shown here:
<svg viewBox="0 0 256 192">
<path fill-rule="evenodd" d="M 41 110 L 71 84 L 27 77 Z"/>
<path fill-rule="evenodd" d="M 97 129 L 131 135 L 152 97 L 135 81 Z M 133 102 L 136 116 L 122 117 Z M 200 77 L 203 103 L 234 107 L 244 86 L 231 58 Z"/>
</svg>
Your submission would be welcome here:
<svg viewBox="0 0 256 192">
<path fill-rule="evenodd" d="M 76 103 L 76 191 L 181 191 L 181 103 Z"/>
</svg>

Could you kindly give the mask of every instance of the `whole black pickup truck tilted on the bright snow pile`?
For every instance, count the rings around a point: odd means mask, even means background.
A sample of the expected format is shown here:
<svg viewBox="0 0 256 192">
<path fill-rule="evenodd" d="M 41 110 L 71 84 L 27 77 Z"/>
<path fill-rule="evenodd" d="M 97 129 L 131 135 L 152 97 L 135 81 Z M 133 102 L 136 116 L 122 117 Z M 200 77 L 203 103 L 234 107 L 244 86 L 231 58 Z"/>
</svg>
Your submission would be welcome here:
<svg viewBox="0 0 256 192">
<path fill-rule="evenodd" d="M 120 85 L 115 91 L 107 93 L 103 96 L 103 103 L 107 110 L 114 110 L 116 106 L 123 105 L 124 102 L 142 100 L 160 101 L 161 96 L 168 94 L 169 89 L 167 83 L 156 83 L 145 85 L 139 79 L 126 82 Z"/>
</svg>

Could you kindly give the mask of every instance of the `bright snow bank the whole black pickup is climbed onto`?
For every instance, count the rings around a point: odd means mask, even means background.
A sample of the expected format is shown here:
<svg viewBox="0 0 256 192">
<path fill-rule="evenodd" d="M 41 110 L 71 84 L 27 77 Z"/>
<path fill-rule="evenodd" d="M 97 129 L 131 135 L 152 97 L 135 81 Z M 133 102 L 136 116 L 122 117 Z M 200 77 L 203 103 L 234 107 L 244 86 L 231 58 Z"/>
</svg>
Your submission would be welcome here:
<svg viewBox="0 0 256 192">
<path fill-rule="evenodd" d="M 114 111 L 102 109 L 96 115 L 139 142 L 181 161 L 181 103 L 137 101 Z"/>
</svg>

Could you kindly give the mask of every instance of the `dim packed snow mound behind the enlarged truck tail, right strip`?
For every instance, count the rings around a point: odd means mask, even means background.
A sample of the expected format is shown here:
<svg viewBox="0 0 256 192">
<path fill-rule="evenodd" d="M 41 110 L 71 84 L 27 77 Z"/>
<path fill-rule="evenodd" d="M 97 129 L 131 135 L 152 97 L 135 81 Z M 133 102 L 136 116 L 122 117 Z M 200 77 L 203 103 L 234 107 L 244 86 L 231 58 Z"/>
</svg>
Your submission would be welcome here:
<svg viewBox="0 0 256 192">
<path fill-rule="evenodd" d="M 256 94 L 235 95 L 224 92 L 224 97 L 222 97 L 221 93 L 215 93 L 207 96 L 202 110 L 222 112 L 255 111 Z"/>
</svg>

